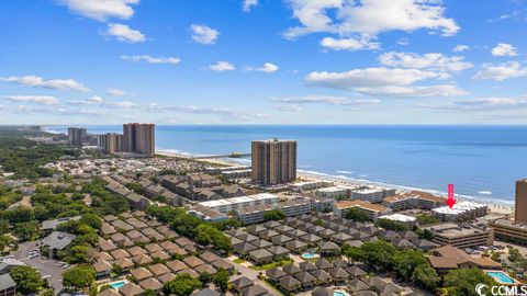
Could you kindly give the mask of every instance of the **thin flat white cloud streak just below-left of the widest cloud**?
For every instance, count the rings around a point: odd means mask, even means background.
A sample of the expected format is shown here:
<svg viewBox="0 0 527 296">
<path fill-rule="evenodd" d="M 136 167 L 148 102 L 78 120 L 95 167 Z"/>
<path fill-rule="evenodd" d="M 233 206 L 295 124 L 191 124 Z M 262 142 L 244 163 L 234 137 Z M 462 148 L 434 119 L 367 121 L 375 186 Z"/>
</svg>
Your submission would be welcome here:
<svg viewBox="0 0 527 296">
<path fill-rule="evenodd" d="M 328 104 L 328 105 L 370 105 L 378 104 L 377 99 L 357 99 L 351 100 L 338 95 L 304 95 L 293 98 L 269 98 L 268 101 L 284 104 Z"/>
</svg>

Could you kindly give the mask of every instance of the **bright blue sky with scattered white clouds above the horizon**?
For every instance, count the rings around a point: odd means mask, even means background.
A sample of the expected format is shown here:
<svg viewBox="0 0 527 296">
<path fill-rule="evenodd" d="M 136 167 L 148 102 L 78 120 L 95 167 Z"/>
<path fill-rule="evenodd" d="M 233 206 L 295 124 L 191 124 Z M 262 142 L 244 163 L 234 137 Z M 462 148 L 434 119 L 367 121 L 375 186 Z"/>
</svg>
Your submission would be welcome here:
<svg viewBox="0 0 527 296">
<path fill-rule="evenodd" d="M 527 124 L 525 0 L 0 2 L 0 124 Z"/>
</svg>

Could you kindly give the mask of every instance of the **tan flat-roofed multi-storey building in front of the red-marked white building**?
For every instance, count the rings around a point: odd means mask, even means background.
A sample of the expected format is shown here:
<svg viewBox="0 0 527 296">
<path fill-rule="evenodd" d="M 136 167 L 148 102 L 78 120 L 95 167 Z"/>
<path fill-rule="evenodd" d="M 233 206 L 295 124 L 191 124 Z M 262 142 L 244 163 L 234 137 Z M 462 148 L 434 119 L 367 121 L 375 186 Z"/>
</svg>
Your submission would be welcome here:
<svg viewBox="0 0 527 296">
<path fill-rule="evenodd" d="M 427 227 L 434 234 L 434 242 L 457 248 L 472 248 L 494 244 L 494 230 L 474 225 L 453 223 Z"/>
</svg>

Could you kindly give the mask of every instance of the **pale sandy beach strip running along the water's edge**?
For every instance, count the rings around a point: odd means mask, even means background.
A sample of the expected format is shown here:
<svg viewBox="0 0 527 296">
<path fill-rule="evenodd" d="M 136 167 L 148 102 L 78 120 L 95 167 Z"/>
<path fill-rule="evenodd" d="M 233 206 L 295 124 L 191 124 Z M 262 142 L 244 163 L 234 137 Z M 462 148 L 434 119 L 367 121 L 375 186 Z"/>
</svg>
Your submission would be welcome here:
<svg viewBox="0 0 527 296">
<path fill-rule="evenodd" d="M 180 152 L 171 149 L 156 149 L 156 153 L 161 156 L 167 156 L 167 157 L 177 157 L 177 158 L 184 158 L 184 159 L 195 160 L 201 162 L 208 162 L 216 166 L 233 167 L 233 166 L 239 166 L 239 164 L 247 164 L 247 163 L 243 163 L 239 160 L 234 160 L 234 159 L 231 160 L 228 158 L 193 159 L 192 157 L 194 157 L 194 155 Z M 439 192 L 436 190 L 426 190 L 426 189 L 419 189 L 419 187 L 413 187 L 413 186 L 389 184 L 389 183 L 382 183 L 382 182 L 375 182 L 375 181 L 362 180 L 362 179 L 358 180 L 349 177 L 332 175 L 332 174 L 316 172 L 316 171 L 298 170 L 298 172 L 299 172 L 298 175 L 300 178 L 311 180 L 311 181 L 322 181 L 322 180 L 332 181 L 336 183 L 336 185 L 357 185 L 357 184 L 358 185 L 378 185 L 378 186 L 395 187 L 396 190 L 400 190 L 400 191 L 423 191 L 423 192 L 427 192 L 441 197 L 446 197 L 448 195 L 447 192 Z M 489 206 L 490 212 L 493 214 L 514 215 L 514 202 L 495 201 L 495 200 L 485 201 L 474 196 L 462 195 L 462 194 L 457 194 L 457 200 L 485 204 Z"/>
</svg>

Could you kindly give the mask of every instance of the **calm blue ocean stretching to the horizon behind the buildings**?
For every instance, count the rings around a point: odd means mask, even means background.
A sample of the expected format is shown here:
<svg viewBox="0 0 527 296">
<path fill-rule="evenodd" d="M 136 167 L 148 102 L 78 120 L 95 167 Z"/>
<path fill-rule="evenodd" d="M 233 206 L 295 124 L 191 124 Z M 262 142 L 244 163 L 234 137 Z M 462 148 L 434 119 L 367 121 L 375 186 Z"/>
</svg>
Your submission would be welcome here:
<svg viewBox="0 0 527 296">
<path fill-rule="evenodd" d="M 482 202 L 514 203 L 515 181 L 527 177 L 527 126 L 156 126 L 157 149 L 191 155 L 250 152 L 268 138 L 298 140 L 300 171 L 436 194 L 455 184 L 458 197 Z"/>
</svg>

